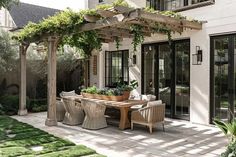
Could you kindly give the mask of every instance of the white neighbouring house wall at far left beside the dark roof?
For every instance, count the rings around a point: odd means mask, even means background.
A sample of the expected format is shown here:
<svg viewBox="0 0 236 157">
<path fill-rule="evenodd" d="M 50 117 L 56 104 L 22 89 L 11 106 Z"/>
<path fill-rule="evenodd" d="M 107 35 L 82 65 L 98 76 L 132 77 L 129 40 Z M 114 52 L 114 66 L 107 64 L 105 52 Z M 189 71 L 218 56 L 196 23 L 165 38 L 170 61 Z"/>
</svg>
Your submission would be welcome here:
<svg viewBox="0 0 236 157">
<path fill-rule="evenodd" d="M 11 18 L 11 15 L 4 8 L 0 9 L 0 28 L 4 30 L 15 28 L 15 24 Z"/>
</svg>

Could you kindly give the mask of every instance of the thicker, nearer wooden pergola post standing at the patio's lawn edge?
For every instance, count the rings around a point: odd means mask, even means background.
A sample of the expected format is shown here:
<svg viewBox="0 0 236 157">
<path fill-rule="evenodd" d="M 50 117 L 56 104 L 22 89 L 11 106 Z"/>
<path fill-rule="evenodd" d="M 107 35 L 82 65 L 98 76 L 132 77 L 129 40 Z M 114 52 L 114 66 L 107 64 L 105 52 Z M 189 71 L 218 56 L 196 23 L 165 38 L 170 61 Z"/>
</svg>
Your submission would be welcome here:
<svg viewBox="0 0 236 157">
<path fill-rule="evenodd" d="M 58 38 L 48 38 L 48 112 L 45 125 L 56 126 L 56 66 Z"/>
</svg>

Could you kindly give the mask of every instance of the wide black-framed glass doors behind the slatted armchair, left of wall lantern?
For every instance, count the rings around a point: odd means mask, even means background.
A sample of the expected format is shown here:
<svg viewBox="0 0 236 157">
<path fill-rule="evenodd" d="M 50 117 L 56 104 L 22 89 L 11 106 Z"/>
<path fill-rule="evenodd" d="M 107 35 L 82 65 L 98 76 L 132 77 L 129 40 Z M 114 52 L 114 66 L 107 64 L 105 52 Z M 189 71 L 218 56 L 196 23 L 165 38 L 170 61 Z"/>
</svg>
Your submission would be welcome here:
<svg viewBox="0 0 236 157">
<path fill-rule="evenodd" d="M 172 47 L 172 49 L 171 49 Z M 190 41 L 142 46 L 142 93 L 166 104 L 169 117 L 189 119 Z"/>
</svg>

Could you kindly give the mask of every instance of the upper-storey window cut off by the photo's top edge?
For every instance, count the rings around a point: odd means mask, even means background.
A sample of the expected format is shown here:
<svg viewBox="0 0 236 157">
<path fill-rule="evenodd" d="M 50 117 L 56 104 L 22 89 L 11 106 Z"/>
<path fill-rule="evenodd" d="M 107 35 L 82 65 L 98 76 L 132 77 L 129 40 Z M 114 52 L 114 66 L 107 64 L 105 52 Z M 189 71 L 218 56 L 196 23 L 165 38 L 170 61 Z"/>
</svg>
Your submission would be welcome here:
<svg viewBox="0 0 236 157">
<path fill-rule="evenodd" d="M 147 0 L 147 6 L 161 11 L 182 11 L 213 3 L 214 0 Z"/>
</svg>

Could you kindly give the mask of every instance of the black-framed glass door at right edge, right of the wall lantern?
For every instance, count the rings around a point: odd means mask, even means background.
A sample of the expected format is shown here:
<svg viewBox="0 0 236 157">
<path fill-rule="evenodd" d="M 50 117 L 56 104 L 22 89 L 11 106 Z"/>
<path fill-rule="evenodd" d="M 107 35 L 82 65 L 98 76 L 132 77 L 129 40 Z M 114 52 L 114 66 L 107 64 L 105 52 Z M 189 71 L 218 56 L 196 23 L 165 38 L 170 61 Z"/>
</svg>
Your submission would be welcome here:
<svg viewBox="0 0 236 157">
<path fill-rule="evenodd" d="M 211 122 L 235 116 L 236 35 L 211 37 Z"/>
</svg>

